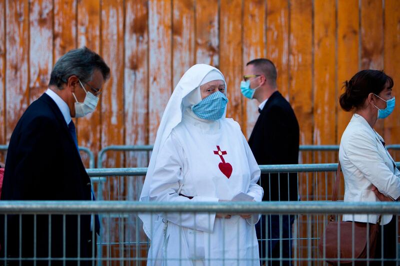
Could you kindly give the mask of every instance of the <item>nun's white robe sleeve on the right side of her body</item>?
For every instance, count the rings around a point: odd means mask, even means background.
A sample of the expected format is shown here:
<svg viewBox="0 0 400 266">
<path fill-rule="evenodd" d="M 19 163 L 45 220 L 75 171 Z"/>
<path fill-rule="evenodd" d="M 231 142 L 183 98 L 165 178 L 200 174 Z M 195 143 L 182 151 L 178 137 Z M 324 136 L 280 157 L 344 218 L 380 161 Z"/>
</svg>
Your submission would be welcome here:
<svg viewBox="0 0 400 266">
<path fill-rule="evenodd" d="M 262 196 L 264 195 L 264 190 L 262 189 L 261 186 L 259 186 L 257 184 L 259 177 L 261 175 L 261 171 L 259 170 L 258 164 L 255 161 L 254 155 L 251 152 L 251 149 L 248 146 L 248 143 L 247 143 L 246 139 L 244 138 L 244 136 L 243 136 L 242 140 L 243 140 L 244 149 L 246 150 L 248 169 L 250 170 L 250 184 L 248 186 L 248 190 L 247 190 L 246 194 L 253 197 L 256 202 L 261 202 Z M 260 214 L 254 214 L 250 218 L 246 219 L 246 222 L 249 225 L 253 226 L 258 222 L 260 217 L 261 217 Z"/>
</svg>

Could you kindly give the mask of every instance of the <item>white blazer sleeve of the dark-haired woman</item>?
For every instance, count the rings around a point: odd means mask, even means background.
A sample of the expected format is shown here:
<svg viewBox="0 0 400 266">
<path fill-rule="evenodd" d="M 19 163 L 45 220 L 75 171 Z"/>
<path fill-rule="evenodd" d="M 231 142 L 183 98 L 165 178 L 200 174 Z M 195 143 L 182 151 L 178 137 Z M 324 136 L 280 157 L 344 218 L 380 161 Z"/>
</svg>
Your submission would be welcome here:
<svg viewBox="0 0 400 266">
<path fill-rule="evenodd" d="M 380 193 L 392 199 L 400 197 L 400 179 L 384 164 L 376 139 L 361 130 L 350 137 L 347 146 L 344 151 L 348 159 Z"/>
</svg>

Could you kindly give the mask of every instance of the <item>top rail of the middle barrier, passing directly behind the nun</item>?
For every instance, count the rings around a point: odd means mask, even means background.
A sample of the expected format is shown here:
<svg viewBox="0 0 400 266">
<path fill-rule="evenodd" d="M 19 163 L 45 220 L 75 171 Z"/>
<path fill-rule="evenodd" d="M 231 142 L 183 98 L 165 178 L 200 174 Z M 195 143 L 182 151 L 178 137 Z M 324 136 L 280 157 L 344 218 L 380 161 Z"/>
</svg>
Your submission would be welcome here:
<svg viewBox="0 0 400 266">
<path fill-rule="evenodd" d="M 400 168 L 400 162 L 396 163 Z M 330 172 L 336 171 L 337 164 L 281 164 L 281 165 L 260 165 L 261 173 L 295 173 L 295 172 Z M 147 168 L 95 168 L 86 169 L 90 177 L 105 176 L 144 176 Z"/>
</svg>

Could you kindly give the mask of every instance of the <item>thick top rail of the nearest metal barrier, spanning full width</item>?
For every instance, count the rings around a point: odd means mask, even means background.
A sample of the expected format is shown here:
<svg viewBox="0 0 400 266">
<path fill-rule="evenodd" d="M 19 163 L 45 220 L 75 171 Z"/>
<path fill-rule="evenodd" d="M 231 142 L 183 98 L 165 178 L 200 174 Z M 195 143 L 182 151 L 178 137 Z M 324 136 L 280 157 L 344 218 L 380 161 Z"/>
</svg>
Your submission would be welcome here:
<svg viewBox="0 0 400 266">
<path fill-rule="evenodd" d="M 89 213 L 267 213 L 400 214 L 397 202 L 220 202 L 168 203 L 137 201 L 0 201 L 0 214 Z"/>
</svg>

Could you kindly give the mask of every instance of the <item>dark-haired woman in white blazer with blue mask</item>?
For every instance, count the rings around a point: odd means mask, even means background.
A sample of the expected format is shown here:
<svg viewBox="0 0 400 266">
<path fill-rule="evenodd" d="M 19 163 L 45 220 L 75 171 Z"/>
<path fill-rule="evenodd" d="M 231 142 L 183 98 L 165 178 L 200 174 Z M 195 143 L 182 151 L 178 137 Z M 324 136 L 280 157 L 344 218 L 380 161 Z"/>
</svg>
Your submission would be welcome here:
<svg viewBox="0 0 400 266">
<path fill-rule="evenodd" d="M 344 111 L 354 112 L 340 140 L 344 201 L 397 200 L 400 197 L 400 171 L 384 147 L 382 137 L 373 129 L 377 119 L 383 119 L 393 111 L 393 80 L 382 71 L 361 70 L 343 87 L 345 92 L 340 96 L 340 106 Z M 343 215 L 343 221 L 376 224 L 377 220 L 378 215 Z M 380 225 L 383 226 L 379 230 L 375 258 L 395 258 L 395 220 L 392 215 L 382 216 Z M 395 265 L 394 262 L 387 263 Z"/>
</svg>

